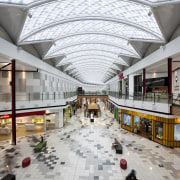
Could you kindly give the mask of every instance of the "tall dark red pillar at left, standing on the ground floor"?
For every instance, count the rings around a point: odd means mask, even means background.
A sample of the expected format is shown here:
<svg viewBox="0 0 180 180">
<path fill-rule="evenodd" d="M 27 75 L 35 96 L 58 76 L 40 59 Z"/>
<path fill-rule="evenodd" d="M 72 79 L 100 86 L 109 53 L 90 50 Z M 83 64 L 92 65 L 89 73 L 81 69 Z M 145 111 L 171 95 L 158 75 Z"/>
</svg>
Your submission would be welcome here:
<svg viewBox="0 0 180 180">
<path fill-rule="evenodd" d="M 12 94 L 12 145 L 16 145 L 16 61 L 11 65 L 11 94 Z"/>
</svg>

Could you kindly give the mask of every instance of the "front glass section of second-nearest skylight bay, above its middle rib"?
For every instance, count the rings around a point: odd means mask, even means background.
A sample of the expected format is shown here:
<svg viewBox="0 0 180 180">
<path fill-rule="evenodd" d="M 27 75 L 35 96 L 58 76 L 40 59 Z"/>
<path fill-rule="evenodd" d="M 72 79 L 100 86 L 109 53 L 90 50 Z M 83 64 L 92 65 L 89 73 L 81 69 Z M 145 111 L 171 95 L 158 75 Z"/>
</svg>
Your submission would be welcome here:
<svg viewBox="0 0 180 180">
<path fill-rule="evenodd" d="M 59 39 L 55 42 L 55 45 L 51 46 L 48 54 L 52 54 L 53 52 L 57 51 L 58 49 L 63 49 L 64 47 L 68 47 L 70 45 L 75 44 L 83 44 L 83 43 L 103 43 L 103 44 L 110 44 L 117 47 L 122 47 L 123 49 L 127 49 L 130 52 L 138 55 L 131 44 L 128 43 L 126 39 L 117 38 L 114 36 L 108 35 L 100 35 L 100 34 L 84 34 L 84 35 L 77 35 L 77 36 L 70 36 L 67 38 Z"/>
</svg>

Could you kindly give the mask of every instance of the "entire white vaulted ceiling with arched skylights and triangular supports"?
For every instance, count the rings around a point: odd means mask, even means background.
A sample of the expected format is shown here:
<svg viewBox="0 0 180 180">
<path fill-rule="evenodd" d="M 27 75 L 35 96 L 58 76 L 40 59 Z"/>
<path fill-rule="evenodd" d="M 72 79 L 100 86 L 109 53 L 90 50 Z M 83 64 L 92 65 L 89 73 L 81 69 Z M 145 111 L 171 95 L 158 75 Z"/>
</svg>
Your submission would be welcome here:
<svg viewBox="0 0 180 180">
<path fill-rule="evenodd" d="M 18 46 L 42 44 L 42 60 L 56 58 L 70 76 L 103 84 L 141 60 L 139 42 L 168 42 L 179 20 L 166 26 L 178 17 L 180 0 L 0 0 L 0 8 L 11 26 L 0 23 Z"/>
</svg>

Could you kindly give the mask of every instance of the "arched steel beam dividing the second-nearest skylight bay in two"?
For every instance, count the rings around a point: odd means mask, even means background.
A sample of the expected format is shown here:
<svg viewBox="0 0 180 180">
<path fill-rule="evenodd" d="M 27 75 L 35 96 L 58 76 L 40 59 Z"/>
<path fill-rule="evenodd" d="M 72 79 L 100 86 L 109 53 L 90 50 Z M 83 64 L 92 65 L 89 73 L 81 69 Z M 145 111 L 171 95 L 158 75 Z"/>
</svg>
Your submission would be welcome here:
<svg viewBox="0 0 180 180">
<path fill-rule="evenodd" d="M 129 54 L 128 56 L 131 57 L 136 57 L 136 58 L 140 58 L 138 56 L 138 54 L 135 54 L 134 52 L 130 51 L 130 50 L 127 50 L 126 48 L 122 47 L 122 46 L 116 46 L 116 45 L 113 45 L 113 44 L 107 44 L 107 43 L 101 43 L 101 42 L 83 42 L 83 43 L 77 43 L 77 44 L 72 44 L 72 45 L 69 45 L 69 46 L 65 46 L 65 47 L 62 47 L 62 48 L 59 48 L 59 49 L 56 49 L 55 51 L 51 52 L 50 54 L 46 54 L 44 58 L 46 58 L 46 56 L 50 56 L 50 55 L 53 55 L 55 52 L 57 51 L 62 51 L 63 49 L 66 49 L 66 48 L 70 48 L 70 47 L 75 47 L 75 46 L 78 46 L 78 45 L 84 45 L 84 44 L 100 44 L 100 45 L 106 45 L 106 46 L 112 46 L 112 47 L 116 47 L 116 48 L 119 48 L 119 49 L 123 49 L 125 51 L 128 51 L 130 52 L 131 54 Z M 134 56 L 133 56 L 134 55 Z"/>
</svg>

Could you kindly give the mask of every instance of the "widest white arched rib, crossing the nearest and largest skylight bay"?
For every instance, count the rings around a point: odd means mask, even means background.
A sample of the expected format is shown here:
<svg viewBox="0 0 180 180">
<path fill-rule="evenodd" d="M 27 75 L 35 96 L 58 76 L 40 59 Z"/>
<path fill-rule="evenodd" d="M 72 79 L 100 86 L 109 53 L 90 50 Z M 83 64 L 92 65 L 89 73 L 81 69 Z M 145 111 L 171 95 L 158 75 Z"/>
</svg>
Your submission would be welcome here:
<svg viewBox="0 0 180 180">
<path fill-rule="evenodd" d="M 128 25 L 128 26 L 140 29 L 142 31 L 145 31 L 145 32 L 151 34 L 152 36 L 155 36 L 157 39 L 162 40 L 162 42 L 164 42 L 164 39 L 161 37 L 161 35 L 157 34 L 156 32 L 153 32 L 153 31 L 149 30 L 148 28 L 142 27 L 142 26 L 140 26 L 138 24 L 135 24 L 133 22 L 124 21 L 123 19 L 106 18 L 106 17 L 76 17 L 76 18 L 73 18 L 73 19 L 66 19 L 66 20 L 62 20 L 62 21 L 59 21 L 59 22 L 51 23 L 51 24 L 45 25 L 45 26 L 43 26 L 41 28 L 31 30 L 26 35 L 22 34 L 20 42 L 25 41 L 25 39 L 29 38 L 30 36 L 32 36 L 32 35 L 34 35 L 36 33 L 41 32 L 41 31 L 43 31 L 45 29 L 52 28 L 52 27 L 62 25 L 62 24 L 66 24 L 66 23 L 71 23 L 71 22 L 75 22 L 75 21 L 81 22 L 81 21 L 85 21 L 85 20 L 100 20 L 100 21 L 108 21 L 108 22 L 115 22 L 115 23 L 125 24 L 125 25 Z"/>
</svg>

